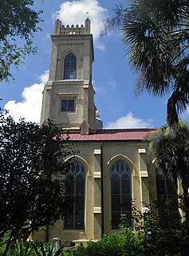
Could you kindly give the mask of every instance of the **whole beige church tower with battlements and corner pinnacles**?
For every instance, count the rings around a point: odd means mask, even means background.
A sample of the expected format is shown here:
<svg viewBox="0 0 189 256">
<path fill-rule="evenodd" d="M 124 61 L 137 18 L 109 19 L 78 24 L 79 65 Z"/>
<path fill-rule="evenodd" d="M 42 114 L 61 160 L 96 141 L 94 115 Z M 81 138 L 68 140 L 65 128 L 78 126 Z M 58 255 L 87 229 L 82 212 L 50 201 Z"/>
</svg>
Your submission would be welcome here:
<svg viewBox="0 0 189 256">
<path fill-rule="evenodd" d="M 49 81 L 43 91 L 41 125 L 49 118 L 64 130 L 89 134 L 102 128 L 92 85 L 94 61 L 90 20 L 85 26 L 55 22 Z"/>
</svg>

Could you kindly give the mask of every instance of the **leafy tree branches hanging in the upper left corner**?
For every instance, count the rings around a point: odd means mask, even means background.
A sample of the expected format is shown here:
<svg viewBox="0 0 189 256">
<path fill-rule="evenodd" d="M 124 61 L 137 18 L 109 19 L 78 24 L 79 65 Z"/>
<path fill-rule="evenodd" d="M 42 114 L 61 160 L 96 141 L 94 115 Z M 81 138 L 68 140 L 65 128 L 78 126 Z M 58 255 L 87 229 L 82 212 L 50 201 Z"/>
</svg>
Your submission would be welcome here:
<svg viewBox="0 0 189 256">
<path fill-rule="evenodd" d="M 41 11 L 35 11 L 33 0 L 0 1 L 0 82 L 13 78 L 10 68 L 24 62 L 26 55 L 36 53 L 33 34 L 40 30 Z"/>
</svg>

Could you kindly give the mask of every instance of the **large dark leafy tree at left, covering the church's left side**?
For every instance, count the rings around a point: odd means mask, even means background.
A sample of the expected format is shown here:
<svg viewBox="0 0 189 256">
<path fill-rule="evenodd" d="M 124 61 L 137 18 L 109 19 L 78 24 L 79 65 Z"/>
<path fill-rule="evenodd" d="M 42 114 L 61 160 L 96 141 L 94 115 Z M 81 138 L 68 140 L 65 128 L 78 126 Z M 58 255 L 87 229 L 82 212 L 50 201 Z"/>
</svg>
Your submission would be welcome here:
<svg viewBox="0 0 189 256">
<path fill-rule="evenodd" d="M 65 216 L 64 174 L 67 135 L 48 122 L 0 116 L 0 242 L 9 234 L 6 251 L 16 238 L 27 238 L 39 227 Z"/>
</svg>

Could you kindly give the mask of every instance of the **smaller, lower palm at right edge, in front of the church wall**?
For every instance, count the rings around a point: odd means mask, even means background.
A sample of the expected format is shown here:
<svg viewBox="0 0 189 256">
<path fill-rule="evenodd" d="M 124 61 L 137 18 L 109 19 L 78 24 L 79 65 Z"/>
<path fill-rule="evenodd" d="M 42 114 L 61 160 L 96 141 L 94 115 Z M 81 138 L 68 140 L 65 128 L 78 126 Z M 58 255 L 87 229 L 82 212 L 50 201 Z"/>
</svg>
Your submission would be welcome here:
<svg viewBox="0 0 189 256">
<path fill-rule="evenodd" d="M 186 220 L 189 221 L 189 127 L 179 120 L 176 126 L 164 126 L 148 140 L 157 170 L 174 181 L 180 179 Z"/>
</svg>

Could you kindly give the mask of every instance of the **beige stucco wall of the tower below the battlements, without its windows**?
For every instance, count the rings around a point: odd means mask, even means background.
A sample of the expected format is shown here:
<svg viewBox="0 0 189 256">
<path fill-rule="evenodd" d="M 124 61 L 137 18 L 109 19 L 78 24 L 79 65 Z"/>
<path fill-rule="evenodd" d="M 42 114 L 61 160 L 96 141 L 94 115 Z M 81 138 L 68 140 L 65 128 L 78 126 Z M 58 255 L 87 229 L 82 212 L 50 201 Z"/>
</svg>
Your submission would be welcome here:
<svg viewBox="0 0 189 256">
<path fill-rule="evenodd" d="M 79 130 L 85 120 L 92 130 L 96 130 L 92 85 L 93 35 L 53 34 L 52 42 L 49 81 L 43 90 L 41 124 L 49 118 L 65 129 Z M 65 80 L 65 57 L 69 53 L 77 58 L 77 75 L 76 79 Z M 75 112 L 61 112 L 63 98 L 75 99 Z"/>
</svg>

